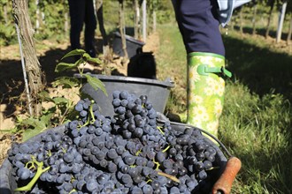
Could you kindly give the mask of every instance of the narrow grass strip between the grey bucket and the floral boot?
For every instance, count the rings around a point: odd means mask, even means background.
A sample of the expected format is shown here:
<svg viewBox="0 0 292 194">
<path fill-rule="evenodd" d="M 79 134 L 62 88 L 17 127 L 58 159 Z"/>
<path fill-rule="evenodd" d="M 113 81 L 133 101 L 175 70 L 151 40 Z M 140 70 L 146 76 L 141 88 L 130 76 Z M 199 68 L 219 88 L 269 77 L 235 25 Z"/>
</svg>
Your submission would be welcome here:
<svg viewBox="0 0 292 194">
<path fill-rule="evenodd" d="M 164 30 L 162 30 L 164 29 Z M 186 111 L 186 85 L 187 58 L 185 48 L 181 40 L 181 34 L 177 28 L 167 26 L 160 29 L 160 46 L 156 56 L 158 61 L 158 77 L 161 80 L 172 78 L 175 82 L 168 101 L 168 111 L 182 114 Z M 166 71 L 167 70 L 167 71 Z"/>
</svg>

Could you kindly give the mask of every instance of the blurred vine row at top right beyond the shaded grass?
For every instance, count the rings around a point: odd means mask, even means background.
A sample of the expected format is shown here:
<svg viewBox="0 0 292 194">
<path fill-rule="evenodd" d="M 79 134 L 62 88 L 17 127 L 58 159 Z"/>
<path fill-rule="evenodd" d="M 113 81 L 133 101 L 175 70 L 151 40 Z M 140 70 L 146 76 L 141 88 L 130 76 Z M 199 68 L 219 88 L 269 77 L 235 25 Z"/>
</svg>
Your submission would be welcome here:
<svg viewBox="0 0 292 194">
<path fill-rule="evenodd" d="M 263 3 L 265 6 L 263 6 Z M 284 4 L 286 4 L 284 6 Z M 285 7 L 285 9 L 284 9 Z M 280 28 L 280 12 L 285 10 L 282 28 Z M 283 14 L 284 15 L 284 14 Z M 230 28 L 237 28 L 242 34 L 261 34 L 268 38 L 276 38 L 276 42 L 291 40 L 292 33 L 292 4 L 287 1 L 259 0 L 251 1 L 239 9 L 234 10 L 234 17 L 230 22 Z M 279 32 L 279 36 L 277 36 Z M 284 35 L 283 35 L 284 34 Z"/>
</svg>

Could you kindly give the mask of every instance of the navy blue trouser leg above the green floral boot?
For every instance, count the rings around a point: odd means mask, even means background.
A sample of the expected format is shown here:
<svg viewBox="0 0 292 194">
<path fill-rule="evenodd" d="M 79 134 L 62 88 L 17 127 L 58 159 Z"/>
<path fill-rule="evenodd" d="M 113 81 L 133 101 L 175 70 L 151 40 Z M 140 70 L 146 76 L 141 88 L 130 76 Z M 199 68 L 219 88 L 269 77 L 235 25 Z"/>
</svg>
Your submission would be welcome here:
<svg viewBox="0 0 292 194">
<path fill-rule="evenodd" d="M 181 0 L 182 36 L 187 52 L 208 52 L 225 56 L 216 19 L 217 0 Z"/>
</svg>

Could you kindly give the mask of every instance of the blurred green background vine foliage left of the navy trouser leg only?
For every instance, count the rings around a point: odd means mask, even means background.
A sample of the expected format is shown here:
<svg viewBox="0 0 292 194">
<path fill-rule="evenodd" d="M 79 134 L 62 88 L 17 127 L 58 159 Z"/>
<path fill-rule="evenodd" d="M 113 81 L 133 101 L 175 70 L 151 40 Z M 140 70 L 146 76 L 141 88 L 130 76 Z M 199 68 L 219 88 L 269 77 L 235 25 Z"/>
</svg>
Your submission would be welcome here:
<svg viewBox="0 0 292 194">
<path fill-rule="evenodd" d="M 173 14 L 168 0 L 159 1 L 157 5 L 158 22 L 165 22 Z M 34 26 L 35 39 L 44 40 L 49 38 L 62 39 L 68 36 L 70 28 L 70 16 L 68 0 L 33 0 L 27 1 L 29 17 Z M 139 1 L 139 4 L 141 1 Z M 149 7 L 157 1 L 148 1 Z M 124 1 L 125 20 L 127 26 L 134 26 L 134 4 L 133 1 Z M 0 0 L 0 45 L 5 46 L 16 43 L 17 35 L 12 17 L 12 1 Z M 112 31 L 119 26 L 119 1 L 104 1 L 104 25 L 107 31 Z M 148 10 L 151 11 L 151 10 Z M 117 14 L 112 14 L 112 13 Z M 151 20 L 151 19 L 150 19 Z M 149 22 L 150 22 L 149 20 Z M 96 31 L 97 32 L 97 31 Z"/>
</svg>

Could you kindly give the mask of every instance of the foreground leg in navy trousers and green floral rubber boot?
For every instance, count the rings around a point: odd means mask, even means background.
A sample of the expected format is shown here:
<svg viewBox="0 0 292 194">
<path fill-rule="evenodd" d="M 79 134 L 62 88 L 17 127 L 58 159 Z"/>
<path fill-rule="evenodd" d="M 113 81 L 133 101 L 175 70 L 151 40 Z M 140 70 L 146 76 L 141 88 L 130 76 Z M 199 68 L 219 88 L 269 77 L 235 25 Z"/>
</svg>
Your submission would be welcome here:
<svg viewBox="0 0 292 194">
<path fill-rule="evenodd" d="M 225 81 L 214 71 L 225 65 L 216 0 L 181 0 L 181 34 L 188 52 L 187 123 L 217 136 Z"/>
</svg>

